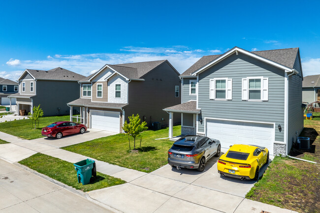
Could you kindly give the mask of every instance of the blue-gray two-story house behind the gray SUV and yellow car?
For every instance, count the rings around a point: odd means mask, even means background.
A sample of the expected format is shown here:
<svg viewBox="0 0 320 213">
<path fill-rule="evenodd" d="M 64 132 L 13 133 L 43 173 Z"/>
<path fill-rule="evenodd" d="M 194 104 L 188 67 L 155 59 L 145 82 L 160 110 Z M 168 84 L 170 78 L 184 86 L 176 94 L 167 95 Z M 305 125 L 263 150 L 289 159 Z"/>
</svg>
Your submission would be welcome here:
<svg viewBox="0 0 320 213">
<path fill-rule="evenodd" d="M 302 68 L 299 48 L 249 52 L 234 47 L 204 56 L 180 76 L 181 133 L 206 135 L 222 147 L 254 144 L 287 155 L 303 129 Z"/>
</svg>

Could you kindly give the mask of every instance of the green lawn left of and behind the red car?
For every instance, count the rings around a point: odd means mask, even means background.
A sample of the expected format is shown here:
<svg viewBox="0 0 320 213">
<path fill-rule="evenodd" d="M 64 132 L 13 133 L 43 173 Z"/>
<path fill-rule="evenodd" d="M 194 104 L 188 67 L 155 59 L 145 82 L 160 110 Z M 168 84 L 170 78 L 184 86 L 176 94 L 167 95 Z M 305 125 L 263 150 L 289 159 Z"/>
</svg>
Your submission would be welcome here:
<svg viewBox="0 0 320 213">
<path fill-rule="evenodd" d="M 52 116 L 40 118 L 39 127 L 33 129 L 32 121 L 29 119 L 0 123 L 0 131 L 10 135 L 18 136 L 28 140 L 41 138 L 41 128 L 53 122 L 69 121 L 69 116 Z"/>
</svg>

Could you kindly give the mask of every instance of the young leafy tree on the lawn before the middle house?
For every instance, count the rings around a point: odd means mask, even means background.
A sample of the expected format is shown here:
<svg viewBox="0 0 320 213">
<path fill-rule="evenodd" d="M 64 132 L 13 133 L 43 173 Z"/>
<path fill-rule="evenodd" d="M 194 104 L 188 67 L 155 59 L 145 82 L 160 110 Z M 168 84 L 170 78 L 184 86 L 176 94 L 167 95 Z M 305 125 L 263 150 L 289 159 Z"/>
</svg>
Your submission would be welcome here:
<svg viewBox="0 0 320 213">
<path fill-rule="evenodd" d="M 132 115 L 129 116 L 129 123 L 126 121 L 123 129 L 126 132 L 125 134 L 129 137 L 131 136 L 134 139 L 134 146 L 133 149 L 135 150 L 135 138 L 140 136 L 140 133 L 147 130 L 148 127 L 146 126 L 147 122 L 142 122 L 139 118 L 139 114 L 136 116 Z M 130 139 L 129 139 L 129 149 L 130 149 Z"/>
</svg>

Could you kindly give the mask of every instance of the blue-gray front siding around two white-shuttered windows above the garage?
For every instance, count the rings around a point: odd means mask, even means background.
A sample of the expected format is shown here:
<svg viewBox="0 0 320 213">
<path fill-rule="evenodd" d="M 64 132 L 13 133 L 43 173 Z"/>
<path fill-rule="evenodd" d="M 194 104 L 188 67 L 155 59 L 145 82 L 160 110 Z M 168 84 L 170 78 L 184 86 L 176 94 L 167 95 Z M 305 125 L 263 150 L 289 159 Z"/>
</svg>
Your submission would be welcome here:
<svg viewBox="0 0 320 213">
<path fill-rule="evenodd" d="M 272 122 L 284 126 L 285 78 L 284 70 L 239 53 L 233 54 L 199 74 L 197 122 L 198 132 L 204 132 L 204 118 Z M 268 101 L 242 100 L 242 78 L 263 76 L 269 78 Z M 209 99 L 209 82 L 213 78 L 232 79 L 232 100 Z M 275 140 L 284 141 L 284 131 L 275 129 Z"/>
</svg>

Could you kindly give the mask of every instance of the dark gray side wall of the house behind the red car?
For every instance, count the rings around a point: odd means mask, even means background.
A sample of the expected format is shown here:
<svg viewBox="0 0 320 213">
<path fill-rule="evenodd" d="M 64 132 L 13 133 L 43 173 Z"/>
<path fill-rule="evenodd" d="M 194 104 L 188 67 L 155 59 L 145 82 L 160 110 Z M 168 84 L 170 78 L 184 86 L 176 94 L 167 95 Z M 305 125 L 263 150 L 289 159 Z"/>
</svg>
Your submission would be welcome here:
<svg viewBox="0 0 320 213">
<path fill-rule="evenodd" d="M 33 106 L 40 104 L 44 116 L 69 115 L 70 107 L 66 104 L 78 99 L 79 95 L 78 82 L 38 80 Z M 79 107 L 73 109 L 79 110 Z"/>
</svg>

